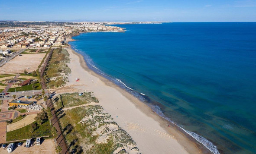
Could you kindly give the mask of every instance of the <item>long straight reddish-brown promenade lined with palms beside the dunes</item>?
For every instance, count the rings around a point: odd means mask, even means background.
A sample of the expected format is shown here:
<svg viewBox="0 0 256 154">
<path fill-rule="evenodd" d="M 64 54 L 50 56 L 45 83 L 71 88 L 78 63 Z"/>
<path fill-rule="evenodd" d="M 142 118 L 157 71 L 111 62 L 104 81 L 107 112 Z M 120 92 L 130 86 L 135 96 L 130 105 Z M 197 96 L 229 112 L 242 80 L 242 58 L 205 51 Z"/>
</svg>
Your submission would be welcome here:
<svg viewBox="0 0 256 154">
<path fill-rule="evenodd" d="M 42 86 L 42 89 L 45 90 L 45 92 L 48 92 L 49 94 L 49 99 L 46 101 L 46 106 L 47 107 L 50 107 L 51 108 L 51 111 L 52 111 L 52 119 L 51 119 L 51 123 L 52 123 L 52 126 L 56 128 L 57 130 L 57 144 L 59 146 L 62 147 L 62 154 L 69 154 L 70 152 L 68 151 L 68 148 L 67 148 L 67 145 L 66 145 L 66 140 L 65 140 L 65 136 L 64 134 L 62 133 L 62 129 L 61 127 L 59 126 L 59 123 L 58 123 L 58 117 L 56 116 L 55 114 L 55 110 L 54 110 L 54 106 L 52 104 L 52 99 L 51 99 L 51 96 L 50 96 L 50 93 L 48 91 L 48 89 L 46 88 L 46 84 L 45 84 L 45 80 L 44 80 L 44 71 L 45 71 L 45 68 L 49 62 L 49 59 L 52 55 L 52 52 L 53 52 L 53 49 L 51 49 L 51 51 L 48 53 L 44 63 L 42 64 L 42 67 L 40 68 L 40 79 L 41 79 L 41 86 Z"/>
</svg>

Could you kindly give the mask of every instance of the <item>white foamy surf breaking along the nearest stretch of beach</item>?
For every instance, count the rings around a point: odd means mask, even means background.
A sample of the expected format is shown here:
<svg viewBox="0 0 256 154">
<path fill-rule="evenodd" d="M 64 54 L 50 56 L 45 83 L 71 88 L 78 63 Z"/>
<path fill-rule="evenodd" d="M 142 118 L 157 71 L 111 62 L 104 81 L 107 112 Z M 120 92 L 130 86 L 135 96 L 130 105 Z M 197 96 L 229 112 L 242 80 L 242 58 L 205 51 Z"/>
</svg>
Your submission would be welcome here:
<svg viewBox="0 0 256 154">
<path fill-rule="evenodd" d="M 164 115 L 164 113 L 162 113 L 161 109 L 159 106 L 151 106 L 152 110 L 155 111 L 159 116 L 162 116 L 163 118 L 167 119 L 169 122 L 175 124 L 170 118 L 166 117 Z M 178 126 L 177 124 L 175 124 L 176 126 Z M 186 132 L 188 135 L 192 136 L 194 139 L 196 139 L 198 142 L 200 142 L 202 145 L 204 145 L 208 150 L 210 150 L 212 153 L 214 154 L 220 154 L 220 152 L 218 151 L 217 147 L 211 142 L 208 141 L 206 138 L 198 135 L 197 133 L 194 132 L 190 132 L 186 129 L 183 129 L 182 127 L 178 126 L 179 128 L 181 128 L 182 130 L 184 130 L 184 132 Z"/>
</svg>

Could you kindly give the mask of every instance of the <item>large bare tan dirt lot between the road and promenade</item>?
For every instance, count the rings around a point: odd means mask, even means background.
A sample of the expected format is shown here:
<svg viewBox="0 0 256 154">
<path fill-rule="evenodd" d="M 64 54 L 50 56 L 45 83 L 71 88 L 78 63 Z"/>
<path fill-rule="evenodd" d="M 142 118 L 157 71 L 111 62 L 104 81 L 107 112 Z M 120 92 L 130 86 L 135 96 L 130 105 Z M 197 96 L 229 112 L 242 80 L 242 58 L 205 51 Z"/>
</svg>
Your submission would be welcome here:
<svg viewBox="0 0 256 154">
<path fill-rule="evenodd" d="M 37 69 L 44 56 L 45 53 L 17 56 L 0 67 L 0 74 L 24 73 L 24 69 L 27 72 L 33 72 Z"/>
</svg>

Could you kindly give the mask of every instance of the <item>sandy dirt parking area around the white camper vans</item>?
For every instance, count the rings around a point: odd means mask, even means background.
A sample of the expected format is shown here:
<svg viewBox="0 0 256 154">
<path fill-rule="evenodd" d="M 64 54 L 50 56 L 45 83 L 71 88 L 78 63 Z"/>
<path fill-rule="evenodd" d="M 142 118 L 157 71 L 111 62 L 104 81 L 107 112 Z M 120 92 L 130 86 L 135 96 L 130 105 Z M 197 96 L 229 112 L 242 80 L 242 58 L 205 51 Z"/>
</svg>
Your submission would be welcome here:
<svg viewBox="0 0 256 154">
<path fill-rule="evenodd" d="M 26 148 L 24 142 L 20 147 L 15 144 L 12 154 L 55 154 L 55 143 L 53 139 L 41 139 L 41 145 L 36 145 L 36 141 L 32 141 L 30 148 Z M 7 147 L 5 149 L 0 146 L 0 154 L 8 154 Z M 7 145 L 8 146 L 8 145 Z"/>
</svg>

